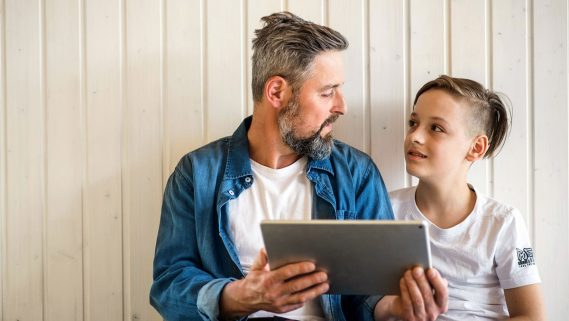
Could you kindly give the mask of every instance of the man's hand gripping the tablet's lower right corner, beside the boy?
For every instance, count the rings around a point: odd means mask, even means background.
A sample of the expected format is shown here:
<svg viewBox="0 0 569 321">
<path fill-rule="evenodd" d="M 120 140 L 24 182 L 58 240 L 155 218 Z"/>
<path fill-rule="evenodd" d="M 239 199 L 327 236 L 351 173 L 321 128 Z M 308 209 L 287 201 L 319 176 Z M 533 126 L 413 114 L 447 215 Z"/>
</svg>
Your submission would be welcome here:
<svg viewBox="0 0 569 321">
<path fill-rule="evenodd" d="M 448 283 L 435 269 L 407 270 L 400 280 L 400 296 L 385 296 L 375 306 L 375 320 L 434 321 L 448 309 Z"/>
</svg>

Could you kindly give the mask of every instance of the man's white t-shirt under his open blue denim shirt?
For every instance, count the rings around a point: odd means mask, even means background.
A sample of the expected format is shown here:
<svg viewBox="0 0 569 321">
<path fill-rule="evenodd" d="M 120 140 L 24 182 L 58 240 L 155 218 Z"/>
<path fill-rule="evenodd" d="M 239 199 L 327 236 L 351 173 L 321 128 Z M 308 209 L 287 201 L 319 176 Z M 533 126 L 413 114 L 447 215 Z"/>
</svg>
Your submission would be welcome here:
<svg viewBox="0 0 569 321">
<path fill-rule="evenodd" d="M 273 169 L 251 160 L 253 184 L 228 204 L 229 225 L 233 244 L 245 274 L 264 247 L 259 224 L 262 220 L 310 220 L 312 216 L 312 183 L 306 177 L 306 158 L 285 168 Z M 250 317 L 275 314 L 259 311 Z M 279 316 L 303 321 L 324 321 L 318 300 Z"/>
</svg>

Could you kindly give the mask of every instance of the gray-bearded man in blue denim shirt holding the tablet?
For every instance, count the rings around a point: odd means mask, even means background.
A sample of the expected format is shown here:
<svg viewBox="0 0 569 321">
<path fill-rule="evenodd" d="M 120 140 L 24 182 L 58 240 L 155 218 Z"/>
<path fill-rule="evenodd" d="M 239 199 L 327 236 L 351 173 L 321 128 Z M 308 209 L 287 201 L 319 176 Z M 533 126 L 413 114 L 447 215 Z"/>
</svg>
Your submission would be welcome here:
<svg viewBox="0 0 569 321">
<path fill-rule="evenodd" d="M 379 297 L 325 294 L 327 276 L 310 262 L 269 269 L 263 219 L 393 213 L 372 160 L 331 136 L 346 113 L 346 39 L 290 13 L 262 20 L 253 40 L 253 116 L 184 156 L 168 181 L 152 305 L 166 320 L 434 319 L 447 300 L 434 270 L 428 278 L 407 271 L 401 296 L 378 304 Z"/>
</svg>

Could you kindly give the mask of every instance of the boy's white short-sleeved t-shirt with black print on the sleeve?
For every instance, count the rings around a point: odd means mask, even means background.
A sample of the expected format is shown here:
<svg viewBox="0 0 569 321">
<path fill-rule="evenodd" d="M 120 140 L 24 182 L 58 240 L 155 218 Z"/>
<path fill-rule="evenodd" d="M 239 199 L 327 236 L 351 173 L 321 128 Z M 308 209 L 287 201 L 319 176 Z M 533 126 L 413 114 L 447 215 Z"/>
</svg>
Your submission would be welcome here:
<svg viewBox="0 0 569 321">
<path fill-rule="evenodd" d="M 442 229 L 417 208 L 416 186 L 391 192 L 395 219 L 429 225 L 433 267 L 448 280 L 448 312 L 437 320 L 501 320 L 508 317 L 503 289 L 540 282 L 520 212 L 476 194 L 468 217 Z"/>
</svg>

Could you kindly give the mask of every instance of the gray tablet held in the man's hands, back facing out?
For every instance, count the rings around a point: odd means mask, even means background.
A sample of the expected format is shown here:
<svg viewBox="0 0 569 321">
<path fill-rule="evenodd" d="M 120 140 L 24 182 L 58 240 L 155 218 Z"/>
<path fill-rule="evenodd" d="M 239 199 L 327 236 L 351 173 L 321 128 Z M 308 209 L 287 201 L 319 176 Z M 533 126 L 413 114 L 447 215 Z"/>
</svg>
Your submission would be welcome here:
<svg viewBox="0 0 569 321">
<path fill-rule="evenodd" d="M 271 269 L 311 261 L 334 294 L 399 294 L 415 265 L 431 267 L 428 228 L 420 221 L 263 221 Z"/>
</svg>

